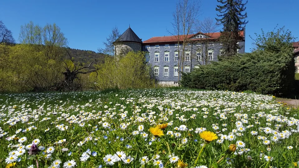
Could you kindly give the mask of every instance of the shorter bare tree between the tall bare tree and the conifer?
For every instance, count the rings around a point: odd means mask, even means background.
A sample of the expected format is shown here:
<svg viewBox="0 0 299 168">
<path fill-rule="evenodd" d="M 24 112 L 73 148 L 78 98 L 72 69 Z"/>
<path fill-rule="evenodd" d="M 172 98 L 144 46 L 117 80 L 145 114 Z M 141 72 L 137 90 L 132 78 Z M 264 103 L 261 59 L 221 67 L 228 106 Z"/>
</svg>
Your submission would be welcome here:
<svg viewBox="0 0 299 168">
<path fill-rule="evenodd" d="M 209 50 L 214 50 L 219 48 L 219 43 L 215 37 L 215 33 L 219 31 L 219 26 L 210 17 L 204 18 L 202 21 L 197 21 L 196 30 L 198 34 L 196 35 L 196 40 L 194 40 L 194 45 L 196 46 L 195 54 L 192 54 L 193 58 L 196 58 L 197 62 L 201 65 L 206 65 L 211 60 L 211 55 L 209 55 Z"/>
</svg>

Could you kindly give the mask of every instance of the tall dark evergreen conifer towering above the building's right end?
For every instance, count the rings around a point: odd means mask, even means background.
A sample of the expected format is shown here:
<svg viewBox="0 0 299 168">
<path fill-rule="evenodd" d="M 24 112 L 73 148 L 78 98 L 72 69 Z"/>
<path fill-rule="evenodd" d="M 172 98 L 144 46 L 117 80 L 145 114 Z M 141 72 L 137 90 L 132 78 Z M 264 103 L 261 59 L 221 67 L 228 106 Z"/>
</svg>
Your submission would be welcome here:
<svg viewBox="0 0 299 168">
<path fill-rule="evenodd" d="M 223 4 L 216 7 L 216 11 L 220 12 L 217 14 L 220 19 L 216 18 L 216 21 L 223 25 L 219 40 L 223 43 L 224 57 L 230 57 L 240 49 L 237 42 L 240 40 L 239 31 L 248 23 L 245 20 L 247 12 L 242 14 L 248 1 L 242 3 L 242 0 L 217 0 L 217 2 Z"/>
</svg>

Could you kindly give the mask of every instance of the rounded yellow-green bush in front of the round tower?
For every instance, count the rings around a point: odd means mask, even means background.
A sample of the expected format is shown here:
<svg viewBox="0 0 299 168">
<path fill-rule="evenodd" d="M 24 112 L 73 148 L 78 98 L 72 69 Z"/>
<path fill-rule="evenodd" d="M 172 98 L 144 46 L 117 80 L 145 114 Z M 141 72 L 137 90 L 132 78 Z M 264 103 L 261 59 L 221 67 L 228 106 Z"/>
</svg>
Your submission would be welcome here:
<svg viewBox="0 0 299 168">
<path fill-rule="evenodd" d="M 105 63 L 99 66 L 97 88 L 145 88 L 153 85 L 144 55 L 144 52 L 131 51 L 124 57 L 105 58 Z"/>
</svg>

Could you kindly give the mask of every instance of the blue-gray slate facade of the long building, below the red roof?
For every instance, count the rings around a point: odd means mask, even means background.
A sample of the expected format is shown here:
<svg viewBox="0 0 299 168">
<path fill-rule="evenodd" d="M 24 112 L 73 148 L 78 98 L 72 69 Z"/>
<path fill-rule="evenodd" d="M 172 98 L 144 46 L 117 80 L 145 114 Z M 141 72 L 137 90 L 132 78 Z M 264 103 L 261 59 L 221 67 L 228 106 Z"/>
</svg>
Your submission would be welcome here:
<svg viewBox="0 0 299 168">
<path fill-rule="evenodd" d="M 159 44 L 159 48 L 156 48 L 156 45 Z M 148 48 L 149 45 L 149 48 Z M 165 47 L 166 45 L 166 47 Z M 148 62 L 154 73 L 155 69 L 158 69 L 158 76 L 153 76 L 157 79 L 157 81 L 167 81 L 173 82 L 175 84 L 178 81 L 178 73 L 175 73 L 175 69 L 178 69 L 180 72 L 182 71 L 182 67 L 178 67 L 178 61 L 175 60 L 175 54 L 178 54 L 178 49 L 180 49 L 180 56 L 182 57 L 182 46 L 176 47 L 176 44 L 172 42 L 166 42 L 164 44 L 142 44 L 142 51 L 147 52 L 146 54 L 146 62 Z M 245 41 L 239 41 L 239 46 L 241 47 L 238 50 L 238 53 L 245 52 Z M 193 68 L 197 68 L 197 66 L 202 66 L 210 63 L 211 61 L 218 61 L 218 56 L 221 54 L 222 45 L 220 43 L 213 43 L 208 46 L 208 50 L 212 51 L 212 59 L 209 59 L 208 56 L 205 56 L 205 45 L 202 44 L 198 46 L 197 43 L 190 44 L 190 46 L 185 47 L 184 53 L 184 61 L 183 61 L 183 72 L 185 72 L 186 68 L 189 68 L 189 72 L 192 71 Z M 200 53 L 201 58 L 198 59 L 198 54 Z M 168 59 L 165 60 L 165 54 L 168 54 Z M 189 61 L 186 60 L 186 54 L 189 54 Z M 159 60 L 155 60 L 155 56 L 159 55 Z M 205 58 L 207 58 L 207 63 L 205 62 Z M 181 65 L 179 65 L 181 66 Z M 168 68 L 168 74 L 165 75 L 164 69 Z M 167 76 L 168 75 L 168 76 Z"/>
</svg>

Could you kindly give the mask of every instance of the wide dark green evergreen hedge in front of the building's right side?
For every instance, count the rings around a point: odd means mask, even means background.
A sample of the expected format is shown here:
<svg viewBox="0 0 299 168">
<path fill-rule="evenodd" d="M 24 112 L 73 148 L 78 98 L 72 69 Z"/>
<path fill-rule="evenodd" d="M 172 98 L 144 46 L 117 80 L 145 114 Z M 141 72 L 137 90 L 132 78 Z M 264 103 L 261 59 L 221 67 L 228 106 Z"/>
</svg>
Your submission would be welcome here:
<svg viewBox="0 0 299 168">
<path fill-rule="evenodd" d="M 285 96 L 294 90 L 295 65 L 292 47 L 278 52 L 256 50 L 242 56 L 195 68 L 183 73 L 184 87 L 255 91 Z"/>
</svg>

